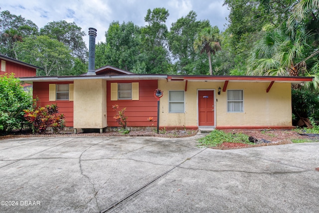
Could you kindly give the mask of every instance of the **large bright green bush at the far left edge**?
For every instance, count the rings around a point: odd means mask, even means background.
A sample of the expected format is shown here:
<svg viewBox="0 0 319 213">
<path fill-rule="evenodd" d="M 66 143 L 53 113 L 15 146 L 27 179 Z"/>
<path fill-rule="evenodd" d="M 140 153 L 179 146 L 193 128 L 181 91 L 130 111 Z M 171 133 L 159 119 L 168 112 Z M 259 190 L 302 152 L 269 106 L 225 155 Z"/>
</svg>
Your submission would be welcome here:
<svg viewBox="0 0 319 213">
<path fill-rule="evenodd" d="M 23 110 L 32 107 L 32 95 L 25 92 L 14 74 L 0 76 L 0 133 L 22 128 Z"/>
</svg>

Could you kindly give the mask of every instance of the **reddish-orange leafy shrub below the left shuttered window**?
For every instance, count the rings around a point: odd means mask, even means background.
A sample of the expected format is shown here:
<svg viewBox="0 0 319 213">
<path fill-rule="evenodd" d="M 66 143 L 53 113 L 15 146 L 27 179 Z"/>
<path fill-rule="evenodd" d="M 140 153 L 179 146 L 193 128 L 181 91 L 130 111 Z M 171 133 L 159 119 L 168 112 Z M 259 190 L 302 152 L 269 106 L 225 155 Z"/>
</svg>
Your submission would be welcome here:
<svg viewBox="0 0 319 213">
<path fill-rule="evenodd" d="M 51 127 L 53 133 L 57 134 L 64 129 L 64 115 L 58 114 L 56 104 L 37 107 L 32 110 L 24 110 L 24 118 L 32 125 L 33 133 L 44 134 Z"/>
</svg>

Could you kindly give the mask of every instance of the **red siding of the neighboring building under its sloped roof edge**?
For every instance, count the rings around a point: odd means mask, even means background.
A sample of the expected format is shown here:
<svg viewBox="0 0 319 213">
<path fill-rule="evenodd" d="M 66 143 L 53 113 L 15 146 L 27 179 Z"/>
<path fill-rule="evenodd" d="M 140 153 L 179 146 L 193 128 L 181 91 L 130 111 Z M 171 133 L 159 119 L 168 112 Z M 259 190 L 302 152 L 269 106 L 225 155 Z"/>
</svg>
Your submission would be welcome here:
<svg viewBox="0 0 319 213">
<path fill-rule="evenodd" d="M 3 60 L 3 59 L 1 59 Z M 5 72 L 0 71 L 0 75 L 3 75 L 4 73 L 10 74 L 13 72 L 15 75 L 14 77 L 33 77 L 36 75 L 36 69 L 23 66 L 21 64 L 16 64 L 10 61 L 5 61 Z"/>
</svg>

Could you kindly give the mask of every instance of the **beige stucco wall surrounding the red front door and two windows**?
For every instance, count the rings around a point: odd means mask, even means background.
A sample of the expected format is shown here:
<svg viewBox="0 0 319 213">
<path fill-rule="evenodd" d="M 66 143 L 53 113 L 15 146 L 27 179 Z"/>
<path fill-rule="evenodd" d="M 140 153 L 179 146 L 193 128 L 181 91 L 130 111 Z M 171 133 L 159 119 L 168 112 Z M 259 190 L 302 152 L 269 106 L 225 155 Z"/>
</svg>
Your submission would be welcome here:
<svg viewBox="0 0 319 213">
<path fill-rule="evenodd" d="M 227 90 L 243 90 L 244 112 L 227 112 L 227 92 L 217 94 L 224 82 L 188 82 L 185 94 L 185 113 L 168 113 L 168 91 L 184 90 L 185 82 L 159 81 L 163 91 L 160 98 L 160 126 L 198 126 L 197 91 L 215 90 L 215 126 L 292 126 L 291 84 L 229 82 Z"/>
</svg>

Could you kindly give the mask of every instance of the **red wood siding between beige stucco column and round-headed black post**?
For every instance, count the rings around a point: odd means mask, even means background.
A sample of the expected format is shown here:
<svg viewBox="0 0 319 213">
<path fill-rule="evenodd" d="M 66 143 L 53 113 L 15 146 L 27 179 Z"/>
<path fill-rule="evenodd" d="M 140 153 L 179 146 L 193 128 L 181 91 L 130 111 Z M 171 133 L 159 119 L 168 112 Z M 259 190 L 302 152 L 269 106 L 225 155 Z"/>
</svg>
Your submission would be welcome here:
<svg viewBox="0 0 319 213">
<path fill-rule="evenodd" d="M 111 101 L 111 83 L 132 83 L 139 82 L 140 100 L 117 100 Z M 128 117 L 129 127 L 147 127 L 157 125 L 158 102 L 154 97 L 154 91 L 158 87 L 157 80 L 137 81 L 107 81 L 107 122 L 109 127 L 117 127 L 118 123 L 113 116 L 116 114 L 112 106 L 119 105 L 119 110 L 126 107 L 125 115 Z M 148 120 L 153 117 L 153 122 Z M 152 125 L 153 124 L 153 125 Z"/>
</svg>

